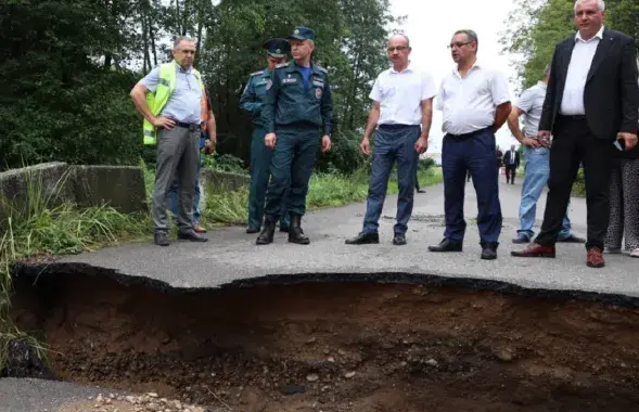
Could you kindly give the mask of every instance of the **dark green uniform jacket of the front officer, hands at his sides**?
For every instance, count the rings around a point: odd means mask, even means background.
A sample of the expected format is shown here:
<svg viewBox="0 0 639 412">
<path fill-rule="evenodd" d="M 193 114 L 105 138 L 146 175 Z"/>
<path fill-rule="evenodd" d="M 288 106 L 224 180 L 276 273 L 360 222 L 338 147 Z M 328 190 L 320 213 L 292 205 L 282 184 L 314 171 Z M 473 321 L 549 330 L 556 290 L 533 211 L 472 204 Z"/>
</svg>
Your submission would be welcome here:
<svg viewBox="0 0 639 412">
<path fill-rule="evenodd" d="M 308 90 L 295 62 L 276 66 L 272 82 L 267 85 L 261 113 L 266 132 L 286 125 L 315 125 L 330 136 L 333 130 L 333 102 L 327 70 L 311 64 Z"/>
</svg>

